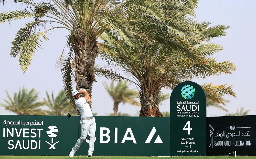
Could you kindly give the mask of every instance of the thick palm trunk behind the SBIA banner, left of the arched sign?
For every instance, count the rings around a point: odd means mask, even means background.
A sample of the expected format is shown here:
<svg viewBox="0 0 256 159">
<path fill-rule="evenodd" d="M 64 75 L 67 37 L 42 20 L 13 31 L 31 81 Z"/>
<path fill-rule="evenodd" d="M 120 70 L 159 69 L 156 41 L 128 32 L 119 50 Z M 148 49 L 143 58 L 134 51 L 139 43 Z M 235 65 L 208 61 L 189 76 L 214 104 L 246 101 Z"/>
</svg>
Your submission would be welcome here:
<svg viewBox="0 0 256 159">
<path fill-rule="evenodd" d="M 150 91 L 142 90 L 140 91 L 140 102 L 141 110 L 140 117 L 163 117 L 162 113 L 159 111 L 159 99 L 158 93 L 154 93 L 157 96 L 153 96 Z"/>
</svg>

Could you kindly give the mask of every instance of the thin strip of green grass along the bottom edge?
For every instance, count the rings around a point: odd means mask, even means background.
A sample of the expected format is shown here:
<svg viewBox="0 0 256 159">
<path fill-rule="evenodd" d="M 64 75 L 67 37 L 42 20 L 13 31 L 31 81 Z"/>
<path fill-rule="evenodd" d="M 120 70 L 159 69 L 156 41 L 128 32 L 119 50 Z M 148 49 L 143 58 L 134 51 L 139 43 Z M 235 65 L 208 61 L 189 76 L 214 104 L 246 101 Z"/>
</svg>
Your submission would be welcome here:
<svg viewBox="0 0 256 159">
<path fill-rule="evenodd" d="M 62 158 L 69 158 L 71 159 L 69 156 L 0 156 L 0 158 L 2 159 L 48 159 L 48 158 L 56 158 L 56 159 L 62 159 Z M 72 157 L 72 159 L 84 159 L 87 158 L 87 156 L 74 156 Z M 229 156 L 177 156 L 177 157 L 146 157 L 146 156 L 93 156 L 91 159 L 129 159 L 129 158 L 135 158 L 135 159 L 165 159 L 165 158 L 171 158 L 171 159 L 215 159 L 215 158 L 228 158 L 228 159 L 232 159 L 233 157 L 229 157 Z M 234 159 L 251 159 L 254 158 L 255 156 L 237 156 Z"/>
</svg>

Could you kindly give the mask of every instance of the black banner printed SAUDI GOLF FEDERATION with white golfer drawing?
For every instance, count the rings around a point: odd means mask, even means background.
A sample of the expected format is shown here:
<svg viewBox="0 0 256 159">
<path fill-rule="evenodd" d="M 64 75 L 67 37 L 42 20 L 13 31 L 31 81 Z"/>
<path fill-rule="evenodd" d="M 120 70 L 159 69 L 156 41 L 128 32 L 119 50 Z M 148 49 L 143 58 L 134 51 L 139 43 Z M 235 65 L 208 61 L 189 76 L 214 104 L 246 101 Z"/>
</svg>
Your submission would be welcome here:
<svg viewBox="0 0 256 159">
<path fill-rule="evenodd" d="M 256 116 L 207 117 L 206 155 L 256 156 Z"/>
</svg>

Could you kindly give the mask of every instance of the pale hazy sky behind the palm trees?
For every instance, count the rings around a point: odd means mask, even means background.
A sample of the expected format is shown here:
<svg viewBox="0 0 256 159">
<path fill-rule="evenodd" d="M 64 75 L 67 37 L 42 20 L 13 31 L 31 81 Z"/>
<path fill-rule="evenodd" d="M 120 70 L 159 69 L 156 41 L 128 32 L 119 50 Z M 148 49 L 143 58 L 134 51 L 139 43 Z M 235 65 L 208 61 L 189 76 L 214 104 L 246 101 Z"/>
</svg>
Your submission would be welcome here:
<svg viewBox="0 0 256 159">
<path fill-rule="evenodd" d="M 212 25 L 224 24 L 230 26 L 226 30 L 227 36 L 219 37 L 211 40 L 211 43 L 218 43 L 224 47 L 224 50 L 216 54 L 217 61 L 225 60 L 233 62 L 237 71 L 232 75 L 220 75 L 206 80 L 194 79 L 198 84 L 214 83 L 233 85 L 237 98 L 225 96 L 230 100 L 226 108 L 229 112 L 236 112 L 237 108 L 244 107 L 250 109 L 250 115 L 256 115 L 256 105 L 251 102 L 256 93 L 255 78 L 255 13 L 256 1 L 254 0 L 201 0 L 199 8 L 196 11 L 197 21 L 209 21 Z M 0 4 L 0 12 L 5 10 L 20 9 L 20 4 Z M 43 49 L 40 49 L 28 71 L 23 74 L 18 65 L 18 59 L 10 57 L 11 42 L 15 37 L 19 28 L 23 27 L 26 20 L 16 20 L 10 26 L 8 22 L 0 24 L 0 52 L 1 52 L 1 82 L 0 82 L 0 103 L 4 103 L 3 99 L 7 99 L 5 90 L 13 97 L 18 92 L 19 87 L 35 88 L 40 92 L 40 100 L 46 98 L 46 91 L 53 91 L 55 96 L 59 90 L 63 89 L 61 73 L 55 68 L 56 60 L 61 54 L 68 32 L 64 29 L 58 29 L 49 36 L 50 42 L 42 43 Z M 66 52 L 68 50 L 66 49 Z M 102 62 L 96 60 L 97 64 Z M 93 83 L 92 102 L 93 112 L 98 115 L 113 112 L 113 101 L 104 89 L 102 82 L 108 81 L 103 77 L 97 77 L 98 82 Z M 74 85 L 75 88 L 75 85 Z M 132 87 L 131 87 L 132 88 Z M 162 90 L 163 93 L 171 93 L 171 90 Z M 165 100 L 160 106 L 160 111 L 170 110 L 170 101 Z M 140 107 L 131 106 L 129 104 L 120 104 L 119 111 L 136 114 Z M 207 108 L 207 116 L 223 116 L 226 112 L 217 108 Z M 0 107 L 0 114 L 14 114 Z"/>
</svg>

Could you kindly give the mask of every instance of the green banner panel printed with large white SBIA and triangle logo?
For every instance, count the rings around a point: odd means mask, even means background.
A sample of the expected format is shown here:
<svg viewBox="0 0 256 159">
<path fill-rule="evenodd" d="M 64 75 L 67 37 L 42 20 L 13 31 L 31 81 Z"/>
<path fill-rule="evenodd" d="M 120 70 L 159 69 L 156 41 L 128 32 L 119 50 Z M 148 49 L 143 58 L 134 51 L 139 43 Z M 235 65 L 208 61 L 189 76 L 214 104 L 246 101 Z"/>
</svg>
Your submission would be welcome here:
<svg viewBox="0 0 256 159">
<path fill-rule="evenodd" d="M 170 120 L 167 117 L 97 116 L 93 154 L 169 156 L 169 128 Z M 89 140 L 89 136 L 87 139 Z M 75 143 L 76 140 L 70 142 L 71 145 Z M 83 143 L 80 146 L 79 155 L 87 155 L 88 148 L 88 143 Z"/>
</svg>

